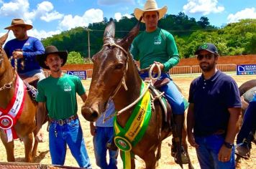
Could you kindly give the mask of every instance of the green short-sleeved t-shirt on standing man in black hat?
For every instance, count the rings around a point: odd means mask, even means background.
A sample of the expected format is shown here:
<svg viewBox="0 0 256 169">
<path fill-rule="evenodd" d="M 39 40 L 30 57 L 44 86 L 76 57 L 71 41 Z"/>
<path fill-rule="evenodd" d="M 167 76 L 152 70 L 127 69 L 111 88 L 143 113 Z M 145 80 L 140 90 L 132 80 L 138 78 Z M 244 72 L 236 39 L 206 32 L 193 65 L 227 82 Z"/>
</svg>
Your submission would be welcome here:
<svg viewBox="0 0 256 169">
<path fill-rule="evenodd" d="M 37 84 L 37 102 L 45 102 L 49 117 L 59 120 L 76 115 L 78 104 L 76 93 L 83 95 L 86 90 L 76 76 L 47 77 Z"/>
</svg>

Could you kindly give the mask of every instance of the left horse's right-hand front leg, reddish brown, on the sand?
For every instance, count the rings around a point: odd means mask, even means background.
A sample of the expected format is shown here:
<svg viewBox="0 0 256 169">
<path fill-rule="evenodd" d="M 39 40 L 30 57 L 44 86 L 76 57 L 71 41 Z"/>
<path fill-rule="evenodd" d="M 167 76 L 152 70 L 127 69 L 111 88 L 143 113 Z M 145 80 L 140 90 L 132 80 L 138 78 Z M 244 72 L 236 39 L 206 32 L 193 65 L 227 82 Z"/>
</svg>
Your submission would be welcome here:
<svg viewBox="0 0 256 169">
<path fill-rule="evenodd" d="M 33 134 L 29 133 L 24 137 L 24 147 L 25 147 L 25 162 L 32 162 L 32 145 L 33 145 Z"/>
</svg>

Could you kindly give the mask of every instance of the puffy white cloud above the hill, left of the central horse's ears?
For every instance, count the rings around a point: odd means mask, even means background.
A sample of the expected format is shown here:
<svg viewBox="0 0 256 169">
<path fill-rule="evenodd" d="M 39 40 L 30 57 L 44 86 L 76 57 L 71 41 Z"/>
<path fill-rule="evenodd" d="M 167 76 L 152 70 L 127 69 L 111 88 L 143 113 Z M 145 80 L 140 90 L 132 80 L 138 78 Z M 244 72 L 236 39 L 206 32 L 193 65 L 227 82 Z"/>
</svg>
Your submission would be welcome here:
<svg viewBox="0 0 256 169">
<path fill-rule="evenodd" d="M 88 26 L 90 23 L 103 21 L 103 11 L 101 9 L 89 9 L 83 16 L 72 16 L 66 15 L 63 18 L 63 21 L 60 21 L 60 29 L 72 29 L 77 26 Z"/>
</svg>

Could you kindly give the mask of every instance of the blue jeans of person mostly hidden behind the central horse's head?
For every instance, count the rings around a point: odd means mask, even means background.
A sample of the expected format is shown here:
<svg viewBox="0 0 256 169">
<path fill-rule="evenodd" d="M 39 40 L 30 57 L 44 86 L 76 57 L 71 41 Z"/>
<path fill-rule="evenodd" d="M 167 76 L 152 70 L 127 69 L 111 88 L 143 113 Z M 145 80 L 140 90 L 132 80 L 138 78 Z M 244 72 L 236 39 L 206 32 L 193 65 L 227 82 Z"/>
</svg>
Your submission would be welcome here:
<svg viewBox="0 0 256 169">
<path fill-rule="evenodd" d="M 109 143 L 114 135 L 114 127 L 96 126 L 95 135 L 93 136 L 94 155 L 96 165 L 101 169 L 117 169 L 117 151 L 109 150 L 109 164 L 106 162 L 106 143 Z"/>
</svg>

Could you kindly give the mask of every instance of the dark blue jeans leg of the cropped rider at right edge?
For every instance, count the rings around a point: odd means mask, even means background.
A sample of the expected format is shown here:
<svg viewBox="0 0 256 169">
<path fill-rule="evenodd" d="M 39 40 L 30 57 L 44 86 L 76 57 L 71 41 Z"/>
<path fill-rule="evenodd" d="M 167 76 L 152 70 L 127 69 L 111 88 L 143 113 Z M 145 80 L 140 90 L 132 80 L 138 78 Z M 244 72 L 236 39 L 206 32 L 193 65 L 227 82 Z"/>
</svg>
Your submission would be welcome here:
<svg viewBox="0 0 256 169">
<path fill-rule="evenodd" d="M 251 101 L 247 110 L 244 112 L 244 120 L 242 122 L 241 130 L 237 135 L 237 144 L 242 143 L 244 138 L 250 135 L 250 132 L 256 128 L 256 100 Z"/>
</svg>

